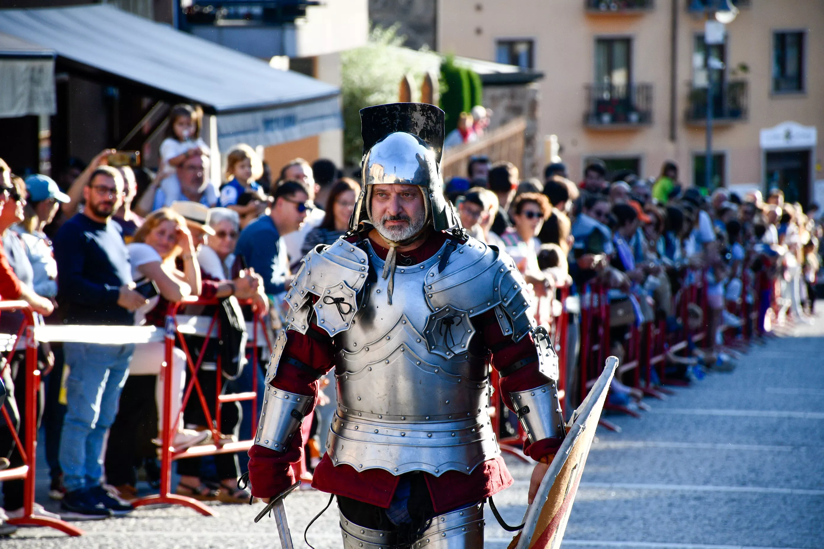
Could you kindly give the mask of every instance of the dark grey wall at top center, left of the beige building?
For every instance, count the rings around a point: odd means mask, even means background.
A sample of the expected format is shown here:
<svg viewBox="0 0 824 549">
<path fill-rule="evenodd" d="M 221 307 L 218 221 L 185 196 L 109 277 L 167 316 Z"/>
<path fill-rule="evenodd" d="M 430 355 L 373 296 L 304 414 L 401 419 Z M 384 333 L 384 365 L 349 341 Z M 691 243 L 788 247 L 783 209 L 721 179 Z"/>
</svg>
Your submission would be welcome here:
<svg viewBox="0 0 824 549">
<path fill-rule="evenodd" d="M 437 0 L 369 0 L 369 21 L 384 28 L 400 23 L 398 35 L 411 49 L 437 49 Z"/>
</svg>

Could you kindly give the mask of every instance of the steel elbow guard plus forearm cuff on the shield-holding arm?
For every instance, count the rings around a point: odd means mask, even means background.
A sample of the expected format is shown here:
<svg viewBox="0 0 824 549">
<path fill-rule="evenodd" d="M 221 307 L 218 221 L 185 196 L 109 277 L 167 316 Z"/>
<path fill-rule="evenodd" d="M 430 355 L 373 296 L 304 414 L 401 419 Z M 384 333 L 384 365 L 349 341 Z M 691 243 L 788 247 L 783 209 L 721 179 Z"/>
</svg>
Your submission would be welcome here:
<svg viewBox="0 0 824 549">
<path fill-rule="evenodd" d="M 538 368 L 541 374 L 550 378 L 550 383 L 527 391 L 509 393 L 518 421 L 523 430 L 527 431 L 530 444 L 552 437 L 563 437 L 565 434 L 564 414 L 558 399 L 558 356 L 552 349 L 545 328 L 537 328 L 533 336 L 538 352 Z"/>
</svg>

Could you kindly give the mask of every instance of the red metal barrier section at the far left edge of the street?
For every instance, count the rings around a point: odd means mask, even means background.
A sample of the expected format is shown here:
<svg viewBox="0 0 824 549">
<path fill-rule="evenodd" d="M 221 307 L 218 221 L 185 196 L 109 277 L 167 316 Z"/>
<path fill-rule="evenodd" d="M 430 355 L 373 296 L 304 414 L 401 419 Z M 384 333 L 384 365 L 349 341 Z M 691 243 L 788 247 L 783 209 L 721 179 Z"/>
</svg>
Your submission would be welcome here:
<svg viewBox="0 0 824 549">
<path fill-rule="evenodd" d="M 3 369 L 10 367 L 12 354 L 15 351 L 16 342 L 21 337 L 26 341 L 26 409 L 20 410 L 21 419 L 26 418 L 26 432 L 24 433 L 25 444 L 21 443 L 12 418 L 8 415 L 5 404 L 2 406 L 2 416 L 6 421 L 8 430 L 12 432 L 17 449 L 20 451 L 24 465 L 5 471 L 0 471 L 0 482 L 16 479 L 23 480 L 23 516 L 19 519 L 8 519 L 11 524 L 20 526 L 48 526 L 69 536 L 82 536 L 83 531 L 71 524 L 48 517 L 35 516 L 35 469 L 37 464 L 37 393 L 40 390 L 40 370 L 37 370 L 37 342 L 35 341 L 35 318 L 34 313 L 25 301 L 0 301 L 0 311 L 19 310 L 23 314 L 23 323 L 17 331 L 15 344 L 8 352 L 6 364 Z M 25 335 L 24 335 L 25 334 Z"/>
</svg>

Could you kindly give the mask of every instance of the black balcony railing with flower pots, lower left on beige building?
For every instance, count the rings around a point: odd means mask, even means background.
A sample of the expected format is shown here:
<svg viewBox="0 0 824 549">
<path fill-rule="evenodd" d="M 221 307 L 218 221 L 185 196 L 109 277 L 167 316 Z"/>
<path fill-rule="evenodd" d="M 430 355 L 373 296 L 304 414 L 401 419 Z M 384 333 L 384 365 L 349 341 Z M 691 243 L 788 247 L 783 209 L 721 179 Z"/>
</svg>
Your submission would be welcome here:
<svg viewBox="0 0 824 549">
<path fill-rule="evenodd" d="M 583 124 L 588 128 L 620 129 L 653 122 L 653 85 L 590 84 Z"/>
</svg>

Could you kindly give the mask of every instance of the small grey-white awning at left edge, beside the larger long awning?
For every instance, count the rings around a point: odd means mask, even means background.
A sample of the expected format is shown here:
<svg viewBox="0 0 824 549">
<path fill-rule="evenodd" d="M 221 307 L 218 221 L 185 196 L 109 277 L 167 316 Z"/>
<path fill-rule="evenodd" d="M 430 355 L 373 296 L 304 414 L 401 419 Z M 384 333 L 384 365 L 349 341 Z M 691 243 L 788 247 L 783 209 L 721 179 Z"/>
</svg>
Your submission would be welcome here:
<svg viewBox="0 0 824 549">
<path fill-rule="evenodd" d="M 54 112 L 54 50 L 0 33 L 0 119 Z"/>
</svg>

